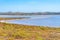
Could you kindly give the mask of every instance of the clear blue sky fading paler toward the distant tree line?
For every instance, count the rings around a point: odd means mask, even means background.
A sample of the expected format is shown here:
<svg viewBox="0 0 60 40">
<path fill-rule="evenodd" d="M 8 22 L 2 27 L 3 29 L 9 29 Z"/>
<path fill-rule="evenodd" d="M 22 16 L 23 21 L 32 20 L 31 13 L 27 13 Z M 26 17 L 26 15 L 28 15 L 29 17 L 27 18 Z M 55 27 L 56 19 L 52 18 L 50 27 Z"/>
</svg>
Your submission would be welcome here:
<svg viewBox="0 0 60 40">
<path fill-rule="evenodd" d="M 0 0 L 0 12 L 60 12 L 60 0 Z"/>
</svg>

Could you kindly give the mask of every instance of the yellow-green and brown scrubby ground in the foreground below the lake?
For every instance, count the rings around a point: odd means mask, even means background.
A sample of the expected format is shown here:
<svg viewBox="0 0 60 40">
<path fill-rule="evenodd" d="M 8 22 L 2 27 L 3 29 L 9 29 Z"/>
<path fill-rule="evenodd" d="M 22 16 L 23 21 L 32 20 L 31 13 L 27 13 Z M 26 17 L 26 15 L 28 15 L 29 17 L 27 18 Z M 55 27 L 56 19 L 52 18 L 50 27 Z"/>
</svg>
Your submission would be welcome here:
<svg viewBox="0 0 60 40">
<path fill-rule="evenodd" d="M 0 40 L 60 40 L 60 28 L 0 22 Z"/>
</svg>

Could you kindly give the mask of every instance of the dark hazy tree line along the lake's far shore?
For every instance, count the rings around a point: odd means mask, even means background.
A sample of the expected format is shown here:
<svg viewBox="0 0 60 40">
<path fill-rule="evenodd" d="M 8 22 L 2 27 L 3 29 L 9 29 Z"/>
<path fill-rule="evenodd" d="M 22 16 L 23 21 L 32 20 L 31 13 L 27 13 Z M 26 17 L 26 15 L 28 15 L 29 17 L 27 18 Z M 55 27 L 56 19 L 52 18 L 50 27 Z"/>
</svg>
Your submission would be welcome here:
<svg viewBox="0 0 60 40">
<path fill-rule="evenodd" d="M 36 13 L 0 12 L 0 15 L 60 15 L 60 12 L 36 12 Z"/>
</svg>

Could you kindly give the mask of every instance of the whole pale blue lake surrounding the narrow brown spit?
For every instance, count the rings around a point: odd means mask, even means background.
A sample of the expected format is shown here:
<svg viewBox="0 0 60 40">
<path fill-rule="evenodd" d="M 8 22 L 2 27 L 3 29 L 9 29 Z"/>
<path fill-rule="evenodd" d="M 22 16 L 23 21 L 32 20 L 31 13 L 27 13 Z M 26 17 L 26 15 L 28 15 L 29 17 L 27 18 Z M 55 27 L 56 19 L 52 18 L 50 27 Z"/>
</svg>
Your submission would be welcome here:
<svg viewBox="0 0 60 40">
<path fill-rule="evenodd" d="M 59 27 L 60 26 L 60 15 L 32 15 L 32 16 L 22 16 L 22 15 L 0 15 L 2 18 L 20 18 L 28 17 L 29 19 L 18 19 L 18 20 L 1 20 L 1 22 L 7 22 L 12 24 L 23 24 L 23 25 L 36 25 L 36 26 L 50 26 Z"/>
</svg>

